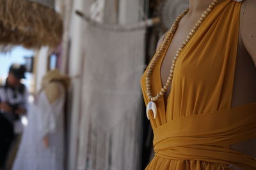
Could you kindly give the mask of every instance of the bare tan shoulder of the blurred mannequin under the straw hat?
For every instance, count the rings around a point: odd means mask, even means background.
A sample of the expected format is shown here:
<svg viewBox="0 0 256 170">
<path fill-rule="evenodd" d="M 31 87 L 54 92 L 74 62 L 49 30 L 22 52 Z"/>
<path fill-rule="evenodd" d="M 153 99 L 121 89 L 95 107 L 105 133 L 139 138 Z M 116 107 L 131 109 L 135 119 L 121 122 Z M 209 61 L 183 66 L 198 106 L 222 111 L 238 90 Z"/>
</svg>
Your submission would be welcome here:
<svg viewBox="0 0 256 170">
<path fill-rule="evenodd" d="M 52 82 L 45 88 L 45 94 L 50 103 L 53 103 L 58 97 L 60 97 L 61 90 L 58 83 Z"/>
</svg>

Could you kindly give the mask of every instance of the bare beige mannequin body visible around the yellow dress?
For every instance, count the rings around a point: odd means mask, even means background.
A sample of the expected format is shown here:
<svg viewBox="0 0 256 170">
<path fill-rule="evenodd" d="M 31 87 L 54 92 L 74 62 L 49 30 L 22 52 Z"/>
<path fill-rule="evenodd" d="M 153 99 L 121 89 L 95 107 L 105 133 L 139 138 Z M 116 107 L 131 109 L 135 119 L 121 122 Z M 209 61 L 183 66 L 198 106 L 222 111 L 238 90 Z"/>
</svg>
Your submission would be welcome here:
<svg viewBox="0 0 256 170">
<path fill-rule="evenodd" d="M 210 3 L 211 0 L 189 0 L 190 10 L 180 20 L 179 27 L 163 59 L 161 66 L 162 85 L 164 85 L 163 83 L 168 78 L 170 63 L 172 63 L 176 50 L 182 41 L 186 39 L 188 32 Z M 232 107 L 256 101 L 256 19 L 254 17 L 256 15 L 256 1 L 244 0 L 242 3 Z M 164 36 L 160 38 L 158 47 L 163 41 L 163 38 Z M 170 87 L 172 87 L 172 84 Z M 165 105 L 169 94 L 170 88 L 164 94 Z M 253 138 L 242 143 L 237 143 L 236 145 L 231 145 L 230 148 L 256 157 L 255 143 L 256 138 Z"/>
</svg>

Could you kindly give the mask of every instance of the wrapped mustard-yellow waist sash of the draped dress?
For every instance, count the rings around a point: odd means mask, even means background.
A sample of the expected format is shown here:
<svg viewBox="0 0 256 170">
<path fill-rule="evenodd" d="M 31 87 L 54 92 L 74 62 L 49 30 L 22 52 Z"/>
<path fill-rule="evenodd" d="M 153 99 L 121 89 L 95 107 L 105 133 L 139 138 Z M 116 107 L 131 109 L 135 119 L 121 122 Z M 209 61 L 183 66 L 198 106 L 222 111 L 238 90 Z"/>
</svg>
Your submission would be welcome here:
<svg viewBox="0 0 256 170">
<path fill-rule="evenodd" d="M 179 118 L 154 129 L 156 155 L 256 167 L 256 159 L 225 146 L 256 137 L 256 103 Z"/>
</svg>

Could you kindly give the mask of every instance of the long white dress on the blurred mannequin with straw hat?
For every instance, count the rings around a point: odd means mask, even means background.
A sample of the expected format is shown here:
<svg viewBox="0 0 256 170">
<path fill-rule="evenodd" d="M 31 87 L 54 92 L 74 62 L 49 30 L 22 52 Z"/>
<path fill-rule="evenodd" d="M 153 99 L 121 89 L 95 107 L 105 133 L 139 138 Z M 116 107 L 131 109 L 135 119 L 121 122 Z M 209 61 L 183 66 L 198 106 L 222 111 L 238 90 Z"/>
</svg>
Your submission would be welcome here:
<svg viewBox="0 0 256 170">
<path fill-rule="evenodd" d="M 24 129 L 13 170 L 63 170 L 65 90 L 59 86 L 62 92 L 56 101 L 49 103 L 42 91 L 29 107 L 28 126 Z M 46 134 L 48 148 L 43 143 Z"/>
</svg>

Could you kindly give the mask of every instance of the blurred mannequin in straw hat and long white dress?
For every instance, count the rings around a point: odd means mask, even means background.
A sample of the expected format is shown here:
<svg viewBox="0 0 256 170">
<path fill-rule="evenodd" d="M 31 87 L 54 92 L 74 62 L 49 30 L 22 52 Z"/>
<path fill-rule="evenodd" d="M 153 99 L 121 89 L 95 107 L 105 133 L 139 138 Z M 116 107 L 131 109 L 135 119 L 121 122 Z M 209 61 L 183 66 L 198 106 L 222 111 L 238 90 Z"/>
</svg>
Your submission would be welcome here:
<svg viewBox="0 0 256 170">
<path fill-rule="evenodd" d="M 42 89 L 28 111 L 24 131 L 13 170 L 64 169 L 64 104 L 69 85 L 68 76 L 49 71 Z"/>
</svg>

